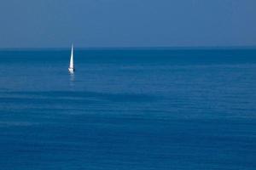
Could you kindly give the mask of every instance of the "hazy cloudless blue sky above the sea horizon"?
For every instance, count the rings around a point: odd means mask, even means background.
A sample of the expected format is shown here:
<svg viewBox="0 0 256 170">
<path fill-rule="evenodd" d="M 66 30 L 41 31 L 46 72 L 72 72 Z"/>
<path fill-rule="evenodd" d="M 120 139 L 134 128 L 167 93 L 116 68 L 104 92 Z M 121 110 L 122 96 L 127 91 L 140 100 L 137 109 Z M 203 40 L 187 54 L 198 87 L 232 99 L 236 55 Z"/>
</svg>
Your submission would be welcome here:
<svg viewBox="0 0 256 170">
<path fill-rule="evenodd" d="M 256 46 L 255 0 L 1 0 L 0 48 Z"/>
</svg>

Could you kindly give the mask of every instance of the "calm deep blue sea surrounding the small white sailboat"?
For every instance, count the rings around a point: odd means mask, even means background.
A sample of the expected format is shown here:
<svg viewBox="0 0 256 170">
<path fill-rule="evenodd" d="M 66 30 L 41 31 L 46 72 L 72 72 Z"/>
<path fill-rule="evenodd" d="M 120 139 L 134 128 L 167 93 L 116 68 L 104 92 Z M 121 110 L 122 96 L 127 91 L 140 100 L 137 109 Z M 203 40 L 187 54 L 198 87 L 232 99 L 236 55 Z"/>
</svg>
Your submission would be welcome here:
<svg viewBox="0 0 256 170">
<path fill-rule="evenodd" d="M 255 170 L 256 49 L 0 50 L 1 170 Z"/>
</svg>

